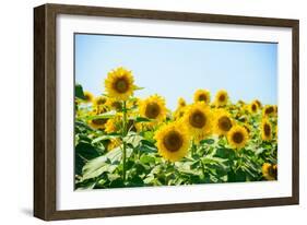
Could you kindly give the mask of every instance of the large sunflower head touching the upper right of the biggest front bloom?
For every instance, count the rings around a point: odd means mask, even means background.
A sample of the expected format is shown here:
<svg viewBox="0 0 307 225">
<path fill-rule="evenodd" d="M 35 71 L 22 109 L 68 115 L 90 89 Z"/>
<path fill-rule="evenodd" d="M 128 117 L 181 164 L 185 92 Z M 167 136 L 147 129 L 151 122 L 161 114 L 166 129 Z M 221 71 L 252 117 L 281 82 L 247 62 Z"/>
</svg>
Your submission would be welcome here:
<svg viewBox="0 0 307 225">
<path fill-rule="evenodd" d="M 198 102 L 187 108 L 184 123 L 196 141 L 201 141 L 212 132 L 212 114 L 209 106 Z"/>
</svg>

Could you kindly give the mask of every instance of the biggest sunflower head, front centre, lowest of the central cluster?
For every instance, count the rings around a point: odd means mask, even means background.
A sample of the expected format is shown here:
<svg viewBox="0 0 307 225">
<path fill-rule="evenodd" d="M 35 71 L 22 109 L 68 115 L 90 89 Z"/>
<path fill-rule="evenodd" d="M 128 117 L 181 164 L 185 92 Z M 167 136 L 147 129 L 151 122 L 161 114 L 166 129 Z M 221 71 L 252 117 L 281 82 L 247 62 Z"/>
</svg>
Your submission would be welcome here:
<svg viewBox="0 0 307 225">
<path fill-rule="evenodd" d="M 186 128 L 179 122 L 172 122 L 160 128 L 154 139 L 160 155 L 170 162 L 180 161 L 188 153 L 190 139 Z"/>
</svg>

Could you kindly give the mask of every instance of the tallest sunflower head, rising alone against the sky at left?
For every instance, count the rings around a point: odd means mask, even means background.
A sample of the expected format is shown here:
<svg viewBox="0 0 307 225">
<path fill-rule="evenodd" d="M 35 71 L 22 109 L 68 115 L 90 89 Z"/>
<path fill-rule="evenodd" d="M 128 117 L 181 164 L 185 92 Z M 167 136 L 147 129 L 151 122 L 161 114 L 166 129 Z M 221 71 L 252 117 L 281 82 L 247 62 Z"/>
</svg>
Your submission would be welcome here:
<svg viewBox="0 0 307 225">
<path fill-rule="evenodd" d="M 117 100 L 127 100 L 135 88 L 132 72 L 120 67 L 108 72 L 105 80 L 105 87 L 109 97 Z"/>
</svg>

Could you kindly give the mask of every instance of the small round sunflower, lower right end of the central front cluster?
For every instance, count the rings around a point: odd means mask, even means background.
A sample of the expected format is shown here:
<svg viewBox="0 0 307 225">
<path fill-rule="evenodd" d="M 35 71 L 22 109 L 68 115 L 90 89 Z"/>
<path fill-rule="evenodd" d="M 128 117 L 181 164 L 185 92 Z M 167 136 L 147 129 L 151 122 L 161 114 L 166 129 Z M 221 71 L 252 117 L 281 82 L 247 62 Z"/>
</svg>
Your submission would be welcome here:
<svg viewBox="0 0 307 225">
<path fill-rule="evenodd" d="M 241 126 L 234 126 L 227 133 L 227 140 L 234 149 L 243 149 L 248 140 L 248 132 Z"/>
</svg>

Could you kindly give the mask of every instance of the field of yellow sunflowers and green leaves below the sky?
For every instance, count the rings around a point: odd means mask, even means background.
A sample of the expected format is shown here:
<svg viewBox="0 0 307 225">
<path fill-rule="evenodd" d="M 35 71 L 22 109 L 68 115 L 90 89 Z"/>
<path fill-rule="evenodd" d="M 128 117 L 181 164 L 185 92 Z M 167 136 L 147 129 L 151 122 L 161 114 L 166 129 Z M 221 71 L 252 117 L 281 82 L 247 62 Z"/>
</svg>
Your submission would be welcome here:
<svg viewBox="0 0 307 225">
<path fill-rule="evenodd" d="M 121 67 L 99 96 L 75 84 L 75 189 L 278 179 L 278 106 L 196 90 L 172 111 L 139 90 Z"/>
</svg>

